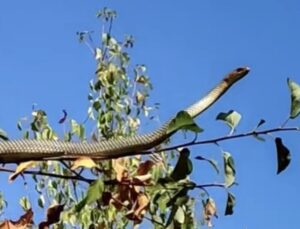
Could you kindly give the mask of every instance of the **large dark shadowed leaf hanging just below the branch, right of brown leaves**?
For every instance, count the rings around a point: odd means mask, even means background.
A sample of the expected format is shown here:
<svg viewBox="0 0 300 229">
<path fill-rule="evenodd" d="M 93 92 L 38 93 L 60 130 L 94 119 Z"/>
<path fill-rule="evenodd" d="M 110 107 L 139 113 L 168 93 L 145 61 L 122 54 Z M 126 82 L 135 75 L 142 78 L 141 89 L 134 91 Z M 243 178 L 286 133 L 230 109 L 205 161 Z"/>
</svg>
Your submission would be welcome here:
<svg viewBox="0 0 300 229">
<path fill-rule="evenodd" d="M 172 171 L 170 177 L 174 181 L 185 179 L 193 170 L 192 161 L 189 159 L 190 151 L 184 148 L 180 151 L 180 155 L 177 164 Z"/>
</svg>

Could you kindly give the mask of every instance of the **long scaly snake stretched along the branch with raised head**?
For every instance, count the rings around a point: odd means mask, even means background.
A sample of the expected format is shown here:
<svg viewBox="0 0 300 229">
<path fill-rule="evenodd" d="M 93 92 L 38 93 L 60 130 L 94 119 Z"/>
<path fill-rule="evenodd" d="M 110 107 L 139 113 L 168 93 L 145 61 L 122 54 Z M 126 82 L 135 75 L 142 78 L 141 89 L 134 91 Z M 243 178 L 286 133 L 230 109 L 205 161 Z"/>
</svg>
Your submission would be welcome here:
<svg viewBox="0 0 300 229">
<path fill-rule="evenodd" d="M 239 67 L 228 73 L 214 88 L 200 100 L 187 107 L 185 111 L 195 118 L 214 104 L 232 85 L 246 76 L 249 67 Z M 108 139 L 99 142 L 64 142 L 60 140 L 17 139 L 0 141 L 0 163 L 20 163 L 25 161 L 76 160 L 80 157 L 99 160 L 137 155 L 139 152 L 153 149 L 171 137 L 176 131 L 169 132 L 174 120 L 156 130 L 141 135 L 120 139 Z"/>
</svg>

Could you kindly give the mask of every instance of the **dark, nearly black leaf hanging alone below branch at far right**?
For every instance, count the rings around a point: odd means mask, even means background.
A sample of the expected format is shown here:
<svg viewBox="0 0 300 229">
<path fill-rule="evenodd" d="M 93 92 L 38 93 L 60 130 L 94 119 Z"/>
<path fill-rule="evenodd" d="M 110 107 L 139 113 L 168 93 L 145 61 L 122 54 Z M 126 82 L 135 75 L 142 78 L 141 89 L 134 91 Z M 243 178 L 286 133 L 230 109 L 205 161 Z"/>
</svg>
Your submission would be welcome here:
<svg viewBox="0 0 300 229">
<path fill-rule="evenodd" d="M 285 170 L 291 161 L 291 154 L 289 149 L 283 145 L 281 138 L 275 138 L 277 150 L 277 174 Z"/>
</svg>

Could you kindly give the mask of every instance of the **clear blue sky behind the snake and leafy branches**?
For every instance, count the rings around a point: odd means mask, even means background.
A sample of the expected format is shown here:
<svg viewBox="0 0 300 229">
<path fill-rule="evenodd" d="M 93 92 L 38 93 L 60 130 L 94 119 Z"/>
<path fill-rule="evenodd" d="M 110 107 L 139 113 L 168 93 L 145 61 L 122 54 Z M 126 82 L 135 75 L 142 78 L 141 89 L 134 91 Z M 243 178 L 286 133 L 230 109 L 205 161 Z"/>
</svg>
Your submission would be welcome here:
<svg viewBox="0 0 300 229">
<path fill-rule="evenodd" d="M 205 129 L 201 137 L 227 133 L 214 121 L 220 111 L 243 114 L 238 132 L 251 130 L 261 118 L 267 120 L 265 127 L 276 127 L 287 117 L 286 78 L 300 83 L 299 1 L 11 0 L 0 3 L 0 127 L 10 137 L 20 138 L 16 122 L 30 114 L 33 103 L 48 112 L 58 131 L 62 109 L 75 119 L 85 117 L 95 63 L 75 34 L 99 30 L 95 13 L 103 6 L 118 12 L 116 35 L 135 36 L 131 57 L 148 66 L 155 86 L 152 101 L 161 104 L 160 120 L 244 65 L 251 67 L 251 74 L 197 119 Z M 149 128 L 143 126 L 141 132 Z M 239 186 L 232 189 L 237 206 L 231 217 L 223 216 L 224 192 L 211 192 L 219 204 L 216 229 L 299 228 L 300 135 L 280 136 L 291 150 L 292 162 L 279 176 L 271 138 L 266 143 L 249 138 L 222 144 L 235 158 Z M 194 148 L 193 155 L 200 153 L 220 159 L 215 147 Z M 195 162 L 194 167 L 199 182 L 220 180 L 207 175 L 213 171 L 208 165 Z M 30 191 L 22 182 L 8 184 L 7 177 L 0 174 L 0 190 L 10 204 L 5 216 L 17 217 L 16 197 Z"/>
</svg>

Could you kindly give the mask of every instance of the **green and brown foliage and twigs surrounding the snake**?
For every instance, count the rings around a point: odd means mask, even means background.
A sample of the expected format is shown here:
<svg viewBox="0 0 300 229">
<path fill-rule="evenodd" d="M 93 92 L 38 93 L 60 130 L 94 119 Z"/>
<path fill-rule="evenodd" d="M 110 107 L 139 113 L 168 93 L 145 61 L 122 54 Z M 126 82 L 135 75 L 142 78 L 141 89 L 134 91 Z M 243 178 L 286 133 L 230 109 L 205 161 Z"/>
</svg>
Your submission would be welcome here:
<svg viewBox="0 0 300 229">
<path fill-rule="evenodd" d="M 64 125 L 64 141 L 102 141 L 136 135 L 141 121 L 153 119 L 151 111 L 157 108 L 148 105 L 152 84 L 146 74 L 145 65 L 130 64 L 129 49 L 134 45 L 130 35 L 118 40 L 112 33 L 117 13 L 104 8 L 97 13 L 102 20 L 100 44 L 95 44 L 91 32 L 79 32 L 79 41 L 86 44 L 96 61 L 95 78 L 90 81 L 88 94 L 89 108 L 87 118 L 80 123 L 69 118 L 67 111 L 59 120 Z M 288 79 L 291 93 L 289 119 L 300 112 L 300 86 Z M 259 130 L 265 123 L 260 120 L 256 128 L 248 133 L 234 135 L 241 120 L 237 111 L 221 112 L 217 120 L 230 127 L 228 135 L 216 139 L 197 141 L 201 129 L 185 111 L 180 111 L 168 123 L 168 134 L 177 130 L 192 131 L 196 137 L 192 142 L 177 146 L 157 146 L 150 156 L 136 155 L 130 158 L 118 158 L 95 161 L 91 158 L 78 158 L 74 162 L 46 161 L 25 162 L 12 172 L 10 181 L 20 175 L 31 174 L 37 203 L 47 209 L 46 220 L 40 228 L 54 225 L 54 228 L 124 228 L 139 225 L 149 220 L 155 228 L 195 228 L 199 217 L 195 209 L 202 208 L 203 222 L 212 226 L 213 217 L 217 217 L 217 204 L 208 192 L 208 188 L 222 188 L 227 193 L 225 215 L 234 212 L 235 196 L 230 188 L 236 184 L 236 170 L 231 153 L 224 151 L 220 142 L 233 138 L 254 136 L 264 140 L 261 135 L 281 130 L 299 130 L 286 128 L 287 120 L 281 127 Z M 58 140 L 56 133 L 47 120 L 47 113 L 33 107 L 30 119 L 22 118 L 18 129 L 25 139 Z M 91 133 L 87 136 L 87 129 Z M 5 131 L 0 129 L 0 138 L 9 140 Z M 290 162 L 290 152 L 281 138 L 273 139 L 277 149 L 278 170 L 284 171 Z M 191 152 L 187 148 L 197 144 L 216 144 L 223 156 L 223 166 L 213 158 L 197 155 L 195 159 L 207 162 L 215 172 L 223 175 L 222 182 L 197 184 L 190 175 L 193 172 Z M 171 153 L 169 152 L 171 151 Z M 155 152 L 156 154 L 153 154 Z M 35 170 L 29 170 L 35 168 Z M 197 205 L 198 198 L 202 199 Z M 199 203 L 199 201 L 198 201 Z M 0 193 L 0 213 L 7 203 Z M 17 221 L 6 220 L 0 228 L 24 227 L 32 223 L 31 203 L 27 197 L 20 199 L 24 215 Z"/>
</svg>

